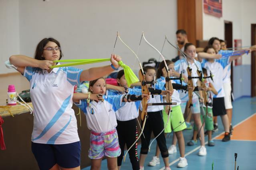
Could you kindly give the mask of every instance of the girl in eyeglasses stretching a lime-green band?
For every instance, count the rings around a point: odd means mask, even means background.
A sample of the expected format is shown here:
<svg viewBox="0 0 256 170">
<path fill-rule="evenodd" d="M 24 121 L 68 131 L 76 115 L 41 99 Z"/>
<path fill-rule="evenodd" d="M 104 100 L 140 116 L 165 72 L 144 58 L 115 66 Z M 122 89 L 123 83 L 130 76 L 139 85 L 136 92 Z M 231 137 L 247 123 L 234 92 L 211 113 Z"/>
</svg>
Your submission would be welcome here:
<svg viewBox="0 0 256 170">
<path fill-rule="evenodd" d="M 81 144 L 71 108 L 74 87 L 111 73 L 121 61 L 121 57 L 113 54 L 111 65 L 103 67 L 50 68 L 62 56 L 60 43 L 54 38 L 44 38 L 38 43 L 34 58 L 12 55 L 9 59 L 30 82 L 34 107 L 32 152 L 41 170 L 80 170 Z"/>
</svg>

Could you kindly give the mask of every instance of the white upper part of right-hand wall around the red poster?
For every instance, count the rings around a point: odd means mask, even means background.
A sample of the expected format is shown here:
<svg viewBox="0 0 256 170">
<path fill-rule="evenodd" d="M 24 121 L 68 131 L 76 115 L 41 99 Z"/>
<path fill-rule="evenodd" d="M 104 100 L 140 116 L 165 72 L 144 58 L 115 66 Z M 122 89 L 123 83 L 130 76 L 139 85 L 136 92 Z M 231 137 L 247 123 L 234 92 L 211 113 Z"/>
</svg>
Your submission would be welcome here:
<svg viewBox="0 0 256 170">
<path fill-rule="evenodd" d="M 233 23 L 234 39 L 242 39 L 242 46 L 251 45 L 251 24 L 256 23 L 256 0 L 223 0 L 222 18 L 203 13 L 203 39 L 211 37 L 224 39 L 224 20 Z M 209 27 L 209 25 L 211 27 Z M 251 64 L 251 55 L 243 55 L 243 65 Z"/>
</svg>

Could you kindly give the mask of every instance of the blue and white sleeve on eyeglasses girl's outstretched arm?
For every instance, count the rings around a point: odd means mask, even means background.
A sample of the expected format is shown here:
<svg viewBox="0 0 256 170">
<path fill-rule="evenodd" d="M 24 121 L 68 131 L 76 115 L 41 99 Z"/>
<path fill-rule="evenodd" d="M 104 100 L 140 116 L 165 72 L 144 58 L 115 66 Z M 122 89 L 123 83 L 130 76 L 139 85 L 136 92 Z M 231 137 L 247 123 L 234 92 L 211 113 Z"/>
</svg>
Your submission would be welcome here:
<svg viewBox="0 0 256 170">
<path fill-rule="evenodd" d="M 78 69 L 75 67 L 67 67 L 67 81 L 72 85 L 79 85 L 83 82 L 80 82 L 80 75 L 83 69 Z"/>
</svg>

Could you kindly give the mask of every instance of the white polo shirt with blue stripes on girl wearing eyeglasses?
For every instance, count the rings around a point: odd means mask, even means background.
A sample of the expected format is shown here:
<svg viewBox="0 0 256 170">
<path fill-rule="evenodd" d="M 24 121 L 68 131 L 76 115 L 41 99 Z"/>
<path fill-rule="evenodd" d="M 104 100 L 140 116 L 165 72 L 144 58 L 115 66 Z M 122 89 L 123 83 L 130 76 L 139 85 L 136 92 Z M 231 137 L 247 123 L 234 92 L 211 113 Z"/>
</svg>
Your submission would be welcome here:
<svg viewBox="0 0 256 170">
<path fill-rule="evenodd" d="M 54 68 L 50 73 L 25 67 L 34 107 L 32 142 L 68 144 L 79 141 L 77 119 L 71 108 L 74 86 L 80 83 L 83 70 L 74 67 Z"/>
</svg>

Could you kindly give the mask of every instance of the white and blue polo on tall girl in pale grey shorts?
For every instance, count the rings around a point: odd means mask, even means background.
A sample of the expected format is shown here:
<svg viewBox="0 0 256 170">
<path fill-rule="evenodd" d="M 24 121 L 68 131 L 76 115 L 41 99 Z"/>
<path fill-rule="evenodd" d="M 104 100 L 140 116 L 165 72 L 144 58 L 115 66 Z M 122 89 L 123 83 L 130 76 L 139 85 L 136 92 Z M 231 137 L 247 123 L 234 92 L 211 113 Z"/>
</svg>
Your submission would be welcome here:
<svg viewBox="0 0 256 170">
<path fill-rule="evenodd" d="M 189 65 L 192 69 L 191 76 L 192 77 L 198 77 L 197 69 L 202 71 L 201 63 L 199 61 L 194 60 L 194 62 L 189 63 Z M 174 69 L 178 73 L 182 72 L 183 75 L 188 76 L 187 75 L 187 61 L 185 59 L 179 59 L 178 61 L 176 61 L 174 63 Z M 198 79 L 192 79 L 192 81 L 193 81 L 193 85 L 196 87 Z M 186 85 L 186 83 L 184 83 L 184 84 Z M 179 97 L 180 97 L 181 101 L 183 101 L 183 102 L 188 101 L 188 92 L 185 93 L 185 91 L 182 92 L 180 90 L 179 91 Z M 194 94 L 194 92 L 193 92 L 193 98 L 192 99 L 198 99 L 198 96 L 196 94 Z"/>
</svg>

